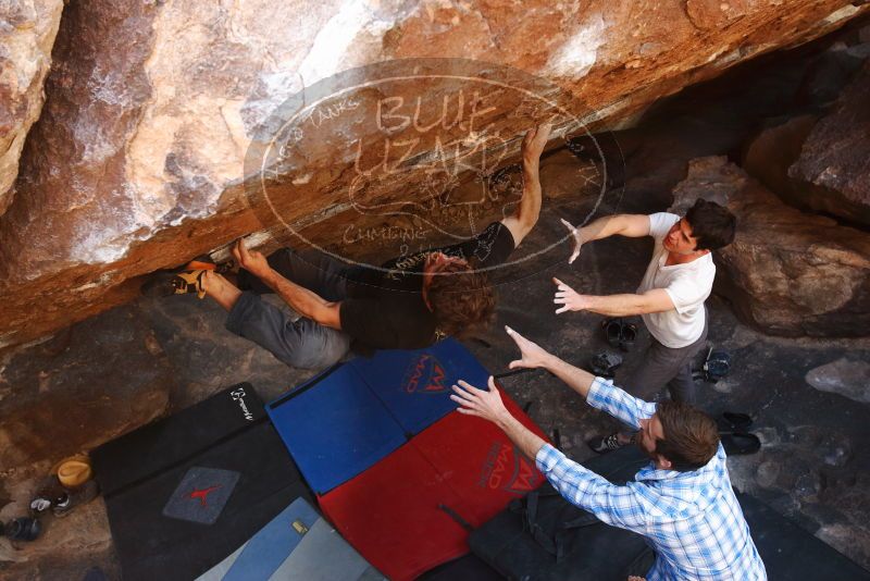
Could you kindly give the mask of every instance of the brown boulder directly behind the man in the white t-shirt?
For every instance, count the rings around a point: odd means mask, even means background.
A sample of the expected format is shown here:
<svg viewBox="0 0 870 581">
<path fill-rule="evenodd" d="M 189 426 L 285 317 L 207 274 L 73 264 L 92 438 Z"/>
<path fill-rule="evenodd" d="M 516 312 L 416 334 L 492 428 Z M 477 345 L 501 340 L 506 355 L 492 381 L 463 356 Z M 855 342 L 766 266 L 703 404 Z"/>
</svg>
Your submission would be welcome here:
<svg viewBox="0 0 870 581">
<path fill-rule="evenodd" d="M 870 324 L 870 235 L 786 206 L 724 157 L 689 163 L 678 211 L 704 197 L 737 217 L 716 252 L 716 290 L 746 322 L 775 335 L 862 336 Z"/>
</svg>

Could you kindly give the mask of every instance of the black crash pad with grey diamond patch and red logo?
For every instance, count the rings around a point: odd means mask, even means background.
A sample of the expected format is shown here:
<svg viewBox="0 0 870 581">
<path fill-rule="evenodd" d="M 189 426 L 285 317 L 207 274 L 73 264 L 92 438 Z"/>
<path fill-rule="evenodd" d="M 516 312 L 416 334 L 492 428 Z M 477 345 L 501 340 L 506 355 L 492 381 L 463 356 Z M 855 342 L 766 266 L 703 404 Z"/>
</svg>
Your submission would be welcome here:
<svg viewBox="0 0 870 581">
<path fill-rule="evenodd" d="M 94 458 L 125 580 L 195 579 L 295 498 L 311 502 L 247 384 L 121 436 Z"/>
</svg>

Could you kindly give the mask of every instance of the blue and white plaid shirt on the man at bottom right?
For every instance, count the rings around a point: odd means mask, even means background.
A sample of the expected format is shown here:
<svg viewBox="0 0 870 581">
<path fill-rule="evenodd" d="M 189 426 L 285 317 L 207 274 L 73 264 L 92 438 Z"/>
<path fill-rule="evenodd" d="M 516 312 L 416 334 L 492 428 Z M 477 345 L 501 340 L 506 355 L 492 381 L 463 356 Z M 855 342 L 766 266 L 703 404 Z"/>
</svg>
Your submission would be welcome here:
<svg viewBox="0 0 870 581">
<path fill-rule="evenodd" d="M 639 429 L 655 404 L 632 397 L 596 378 L 586 401 Z M 658 470 L 652 462 L 634 482 L 616 486 L 569 460 L 549 444 L 537 453 L 538 469 L 569 502 L 601 521 L 646 537 L 656 552 L 647 581 L 766 580 L 767 572 L 731 489 L 725 450 L 691 472 Z"/>
</svg>

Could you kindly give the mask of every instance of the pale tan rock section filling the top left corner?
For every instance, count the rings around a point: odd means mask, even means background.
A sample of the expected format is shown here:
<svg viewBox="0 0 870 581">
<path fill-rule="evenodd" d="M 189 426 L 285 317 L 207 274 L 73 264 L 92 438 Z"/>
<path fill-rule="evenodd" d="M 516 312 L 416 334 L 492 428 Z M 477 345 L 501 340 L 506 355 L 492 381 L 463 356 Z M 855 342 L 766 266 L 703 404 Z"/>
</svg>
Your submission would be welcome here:
<svg viewBox="0 0 870 581">
<path fill-rule="evenodd" d="M 42 83 L 63 0 L 0 2 L 0 214 L 12 203 L 24 139 L 42 109 Z"/>
</svg>

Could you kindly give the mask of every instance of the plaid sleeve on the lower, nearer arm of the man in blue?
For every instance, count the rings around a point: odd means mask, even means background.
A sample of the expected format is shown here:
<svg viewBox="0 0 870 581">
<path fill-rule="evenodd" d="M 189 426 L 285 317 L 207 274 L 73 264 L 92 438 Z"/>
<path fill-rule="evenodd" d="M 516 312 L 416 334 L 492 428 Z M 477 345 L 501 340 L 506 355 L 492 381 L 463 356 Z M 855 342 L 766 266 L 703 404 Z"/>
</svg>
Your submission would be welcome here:
<svg viewBox="0 0 870 581">
<path fill-rule="evenodd" d="M 563 498 L 601 522 L 635 532 L 646 530 L 643 505 L 630 486 L 612 484 L 549 444 L 538 450 L 535 463 Z"/>
</svg>

